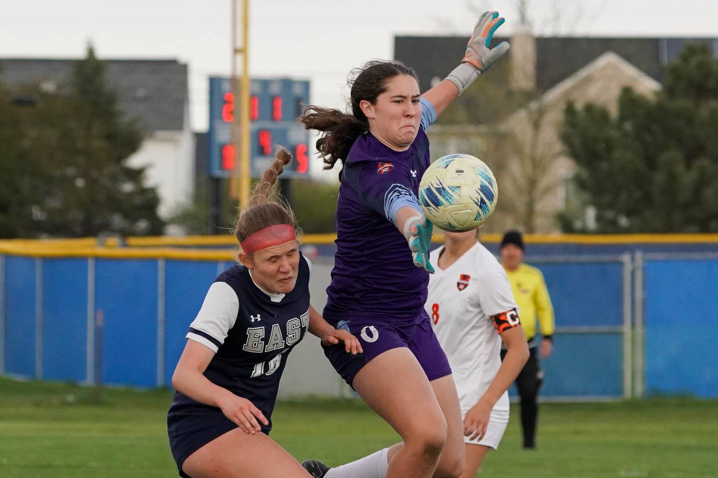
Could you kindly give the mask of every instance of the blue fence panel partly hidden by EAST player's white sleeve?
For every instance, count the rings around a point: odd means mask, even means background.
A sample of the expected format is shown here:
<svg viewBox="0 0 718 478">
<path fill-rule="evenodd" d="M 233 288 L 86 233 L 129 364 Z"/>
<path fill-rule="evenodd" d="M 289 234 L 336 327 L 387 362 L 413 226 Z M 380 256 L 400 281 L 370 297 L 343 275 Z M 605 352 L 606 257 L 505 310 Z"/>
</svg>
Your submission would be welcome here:
<svg viewBox="0 0 718 478">
<path fill-rule="evenodd" d="M 185 335 L 215 277 L 217 262 L 167 261 L 164 305 L 164 383 L 172 386 L 172 373 L 185 348 Z"/>
</svg>

